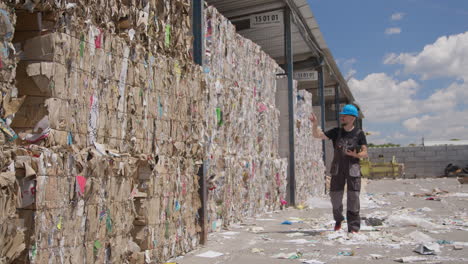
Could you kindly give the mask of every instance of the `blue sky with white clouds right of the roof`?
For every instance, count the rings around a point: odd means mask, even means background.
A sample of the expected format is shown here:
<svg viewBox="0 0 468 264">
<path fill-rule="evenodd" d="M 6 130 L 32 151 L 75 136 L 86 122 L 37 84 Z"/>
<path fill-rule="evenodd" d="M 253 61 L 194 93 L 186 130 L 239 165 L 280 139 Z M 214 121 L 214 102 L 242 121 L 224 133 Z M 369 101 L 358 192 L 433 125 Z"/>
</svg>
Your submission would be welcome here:
<svg viewBox="0 0 468 264">
<path fill-rule="evenodd" d="M 468 139 L 467 0 L 308 1 L 369 142 Z"/>
</svg>

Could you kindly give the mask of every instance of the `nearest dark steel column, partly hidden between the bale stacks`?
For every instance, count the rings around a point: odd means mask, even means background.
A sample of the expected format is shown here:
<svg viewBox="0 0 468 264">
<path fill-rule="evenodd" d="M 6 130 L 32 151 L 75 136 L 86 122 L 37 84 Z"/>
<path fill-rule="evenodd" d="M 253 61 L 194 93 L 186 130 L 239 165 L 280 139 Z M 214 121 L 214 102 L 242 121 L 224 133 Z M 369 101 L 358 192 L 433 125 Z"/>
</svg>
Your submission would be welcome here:
<svg viewBox="0 0 468 264">
<path fill-rule="evenodd" d="M 192 0 L 192 30 L 193 30 L 193 61 L 198 64 L 203 64 L 203 1 Z M 206 148 L 205 148 L 206 150 Z M 201 208 L 198 210 L 200 219 L 200 244 L 206 245 L 208 243 L 208 213 L 207 213 L 207 200 L 208 190 L 206 187 L 207 175 L 207 161 L 204 160 L 203 164 L 198 170 L 198 186 L 201 201 Z"/>
</svg>

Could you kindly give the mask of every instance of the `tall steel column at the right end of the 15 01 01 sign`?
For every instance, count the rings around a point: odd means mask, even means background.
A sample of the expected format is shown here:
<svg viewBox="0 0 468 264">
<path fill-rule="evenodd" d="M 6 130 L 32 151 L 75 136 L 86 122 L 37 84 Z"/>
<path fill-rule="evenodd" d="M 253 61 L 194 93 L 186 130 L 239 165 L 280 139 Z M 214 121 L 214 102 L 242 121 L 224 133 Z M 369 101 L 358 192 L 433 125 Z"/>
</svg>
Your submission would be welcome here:
<svg viewBox="0 0 468 264">
<path fill-rule="evenodd" d="M 284 10 L 284 57 L 286 59 L 286 74 L 288 76 L 288 119 L 289 119 L 289 204 L 296 204 L 296 174 L 294 157 L 294 97 L 293 97 L 293 52 L 292 52 L 291 10 Z"/>
</svg>

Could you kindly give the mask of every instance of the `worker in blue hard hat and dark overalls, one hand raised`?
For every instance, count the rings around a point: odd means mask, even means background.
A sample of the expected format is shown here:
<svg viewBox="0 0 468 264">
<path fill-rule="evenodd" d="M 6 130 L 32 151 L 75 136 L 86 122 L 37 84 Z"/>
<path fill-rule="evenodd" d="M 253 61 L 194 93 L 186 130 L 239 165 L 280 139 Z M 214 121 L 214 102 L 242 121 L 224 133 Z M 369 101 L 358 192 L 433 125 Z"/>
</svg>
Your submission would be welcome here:
<svg viewBox="0 0 468 264">
<path fill-rule="evenodd" d="M 330 198 L 335 219 L 335 231 L 341 229 L 343 217 L 343 194 L 347 185 L 347 211 L 348 232 L 357 233 L 361 227 L 359 216 L 361 191 L 361 167 L 359 159 L 367 157 L 367 141 L 364 132 L 354 123 L 359 116 L 356 106 L 348 104 L 340 112 L 341 127 L 323 132 L 318 127 L 317 117 L 312 113 L 312 134 L 315 138 L 333 141 L 334 155 L 330 169 Z"/>
</svg>

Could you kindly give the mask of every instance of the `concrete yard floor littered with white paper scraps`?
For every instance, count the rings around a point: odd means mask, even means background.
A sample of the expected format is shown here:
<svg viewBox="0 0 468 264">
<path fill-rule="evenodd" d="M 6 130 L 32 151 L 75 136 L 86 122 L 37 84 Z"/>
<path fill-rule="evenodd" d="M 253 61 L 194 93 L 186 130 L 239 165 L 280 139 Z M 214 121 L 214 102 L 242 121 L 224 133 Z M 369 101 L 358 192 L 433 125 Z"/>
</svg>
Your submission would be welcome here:
<svg viewBox="0 0 468 264">
<path fill-rule="evenodd" d="M 432 195 L 440 201 L 417 196 L 431 193 L 434 188 L 448 193 Z M 468 185 L 461 185 L 455 179 L 369 181 L 361 193 L 361 216 L 387 220 L 383 226 L 364 225 L 358 235 L 344 230 L 332 231 L 334 222 L 327 197 L 311 200 L 310 206 L 315 208 L 286 209 L 232 225 L 229 230 L 210 234 L 208 245 L 168 262 L 275 264 L 315 260 L 317 262 L 310 263 L 396 263 L 396 258 L 415 256 L 427 259 L 419 263 L 468 263 Z M 410 226 L 395 223 L 392 226 L 389 218 L 399 216 L 419 219 L 420 223 L 412 222 Z M 296 222 L 282 225 L 285 220 Z M 415 224 L 419 226 L 412 226 Z M 263 230 L 253 232 L 255 228 Z M 446 240 L 457 244 L 464 242 L 465 245 L 461 250 L 454 250 L 453 244 L 441 245 L 437 255 L 419 255 L 413 252 L 418 245 L 410 235 L 414 237 L 416 233 L 413 231 L 430 236 L 433 242 Z M 255 249 L 262 252 L 253 253 Z M 223 255 L 215 258 L 197 256 L 207 251 Z M 279 253 L 295 252 L 300 252 L 298 259 L 274 257 Z M 339 256 L 339 252 L 353 252 L 354 255 Z M 373 259 L 370 254 L 379 254 L 381 258 Z"/>
</svg>

